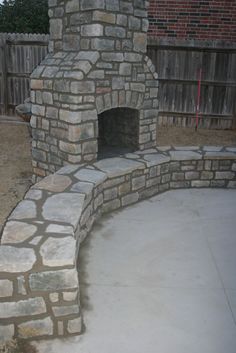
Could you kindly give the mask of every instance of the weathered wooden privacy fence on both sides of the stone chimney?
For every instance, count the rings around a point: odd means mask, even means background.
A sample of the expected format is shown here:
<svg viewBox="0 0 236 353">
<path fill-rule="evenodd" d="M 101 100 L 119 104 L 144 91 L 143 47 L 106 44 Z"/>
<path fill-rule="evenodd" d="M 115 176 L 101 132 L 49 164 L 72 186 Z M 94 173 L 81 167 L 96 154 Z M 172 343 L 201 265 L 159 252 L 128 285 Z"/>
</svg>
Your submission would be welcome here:
<svg viewBox="0 0 236 353">
<path fill-rule="evenodd" d="M 0 33 L 0 114 L 29 97 L 29 76 L 47 54 L 49 36 Z M 194 126 L 202 69 L 200 126 L 236 127 L 236 44 L 148 39 L 159 75 L 158 124 Z"/>
</svg>

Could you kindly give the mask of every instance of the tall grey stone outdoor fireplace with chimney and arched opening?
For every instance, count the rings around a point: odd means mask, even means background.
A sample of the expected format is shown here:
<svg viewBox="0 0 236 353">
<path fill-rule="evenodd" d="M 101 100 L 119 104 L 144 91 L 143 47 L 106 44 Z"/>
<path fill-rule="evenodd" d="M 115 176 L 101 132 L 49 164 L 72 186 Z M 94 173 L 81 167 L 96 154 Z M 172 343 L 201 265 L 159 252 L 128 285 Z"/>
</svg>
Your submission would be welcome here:
<svg viewBox="0 0 236 353">
<path fill-rule="evenodd" d="M 156 145 L 147 7 L 144 0 L 49 0 L 49 54 L 31 76 L 38 178 Z"/>
</svg>

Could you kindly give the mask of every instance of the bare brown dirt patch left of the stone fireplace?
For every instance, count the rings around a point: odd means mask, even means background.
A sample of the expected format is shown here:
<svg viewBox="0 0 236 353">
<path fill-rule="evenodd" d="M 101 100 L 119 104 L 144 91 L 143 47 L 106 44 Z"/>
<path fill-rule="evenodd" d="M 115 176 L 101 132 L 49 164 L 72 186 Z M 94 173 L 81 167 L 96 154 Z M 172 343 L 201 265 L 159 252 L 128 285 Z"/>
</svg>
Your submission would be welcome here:
<svg viewBox="0 0 236 353">
<path fill-rule="evenodd" d="M 0 124 L 0 229 L 29 189 L 31 177 L 28 127 Z"/>
</svg>

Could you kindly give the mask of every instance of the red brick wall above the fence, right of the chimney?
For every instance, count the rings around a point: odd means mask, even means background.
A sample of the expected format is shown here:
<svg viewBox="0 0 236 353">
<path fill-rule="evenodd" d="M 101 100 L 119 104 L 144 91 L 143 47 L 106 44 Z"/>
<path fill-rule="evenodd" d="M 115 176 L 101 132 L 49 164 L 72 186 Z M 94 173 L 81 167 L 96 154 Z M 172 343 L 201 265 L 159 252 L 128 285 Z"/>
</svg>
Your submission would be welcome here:
<svg viewBox="0 0 236 353">
<path fill-rule="evenodd" d="M 236 41 L 236 0 L 150 0 L 149 35 Z"/>
</svg>

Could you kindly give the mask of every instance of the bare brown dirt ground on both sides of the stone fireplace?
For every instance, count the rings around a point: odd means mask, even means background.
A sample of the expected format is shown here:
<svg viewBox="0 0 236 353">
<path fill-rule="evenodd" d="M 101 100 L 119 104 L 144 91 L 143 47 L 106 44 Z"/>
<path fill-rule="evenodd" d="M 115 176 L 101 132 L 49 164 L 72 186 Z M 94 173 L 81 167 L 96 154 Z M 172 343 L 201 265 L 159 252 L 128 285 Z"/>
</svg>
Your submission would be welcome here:
<svg viewBox="0 0 236 353">
<path fill-rule="evenodd" d="M 236 130 L 201 130 L 162 127 L 159 146 L 235 145 Z M 26 125 L 0 124 L 0 229 L 31 185 L 30 135 Z"/>
</svg>

